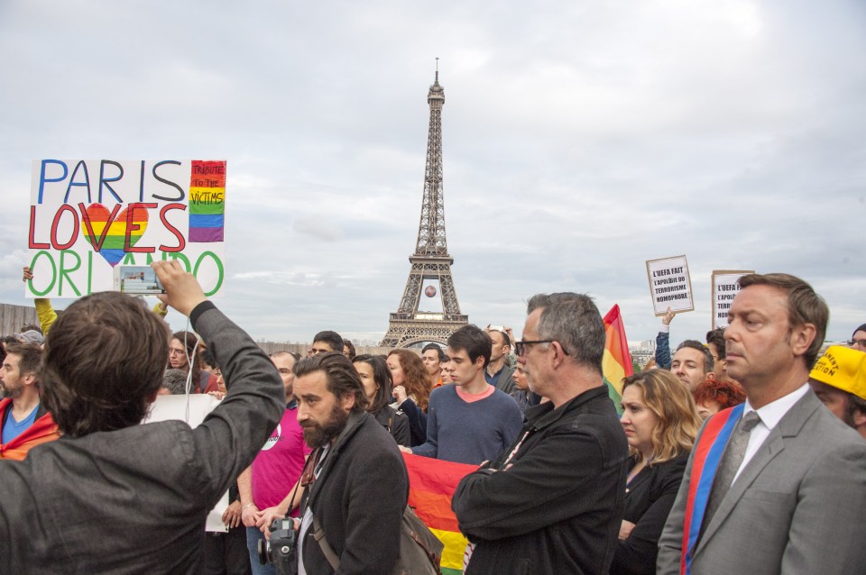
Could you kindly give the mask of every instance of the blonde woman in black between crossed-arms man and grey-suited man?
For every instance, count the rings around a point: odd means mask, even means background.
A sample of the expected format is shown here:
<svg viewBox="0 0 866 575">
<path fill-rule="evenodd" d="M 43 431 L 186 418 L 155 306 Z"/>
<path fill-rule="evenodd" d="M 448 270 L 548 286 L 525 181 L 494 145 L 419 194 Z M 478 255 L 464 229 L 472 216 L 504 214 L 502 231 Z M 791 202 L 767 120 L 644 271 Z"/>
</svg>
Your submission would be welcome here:
<svg viewBox="0 0 866 575">
<path fill-rule="evenodd" d="M 611 573 L 655 573 L 659 537 L 677 498 L 701 419 L 691 392 L 668 370 L 622 380 L 629 475 Z"/>
</svg>

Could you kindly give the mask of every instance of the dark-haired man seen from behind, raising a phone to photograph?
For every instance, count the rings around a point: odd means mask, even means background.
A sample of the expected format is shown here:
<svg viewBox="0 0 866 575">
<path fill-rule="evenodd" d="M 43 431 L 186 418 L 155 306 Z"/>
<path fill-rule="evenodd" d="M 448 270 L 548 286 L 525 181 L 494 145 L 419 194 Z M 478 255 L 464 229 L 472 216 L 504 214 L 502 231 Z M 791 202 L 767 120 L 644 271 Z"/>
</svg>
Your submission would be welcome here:
<svg viewBox="0 0 866 575">
<path fill-rule="evenodd" d="M 207 512 L 286 409 L 271 360 L 192 274 L 176 260 L 152 267 L 228 393 L 195 429 L 140 425 L 162 383 L 168 325 L 121 293 L 70 305 L 45 340 L 41 373 L 63 435 L 24 461 L 0 461 L 0 573 L 197 573 Z"/>
</svg>

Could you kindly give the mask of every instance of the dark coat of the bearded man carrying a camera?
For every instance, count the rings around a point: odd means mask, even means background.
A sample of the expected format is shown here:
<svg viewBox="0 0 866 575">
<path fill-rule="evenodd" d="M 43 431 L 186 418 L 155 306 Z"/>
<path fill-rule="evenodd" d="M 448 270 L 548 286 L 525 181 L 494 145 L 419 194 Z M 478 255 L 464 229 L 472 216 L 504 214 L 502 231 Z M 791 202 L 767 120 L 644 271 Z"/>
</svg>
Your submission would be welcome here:
<svg viewBox="0 0 866 575">
<path fill-rule="evenodd" d="M 316 456 L 314 451 L 309 459 L 315 461 Z M 318 478 L 304 492 L 301 516 L 312 509 L 340 558 L 341 573 L 390 573 L 400 552 L 408 499 L 409 475 L 397 443 L 373 415 L 352 412 Z M 299 545 L 310 575 L 334 572 L 313 537 L 312 525 Z"/>
</svg>

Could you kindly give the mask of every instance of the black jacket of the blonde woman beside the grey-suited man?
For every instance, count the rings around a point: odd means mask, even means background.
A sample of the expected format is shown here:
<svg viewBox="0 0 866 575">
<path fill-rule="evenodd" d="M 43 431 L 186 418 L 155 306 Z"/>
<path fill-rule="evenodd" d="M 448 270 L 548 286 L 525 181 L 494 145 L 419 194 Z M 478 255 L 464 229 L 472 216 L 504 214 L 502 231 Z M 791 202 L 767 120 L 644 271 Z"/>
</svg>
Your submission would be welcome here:
<svg viewBox="0 0 866 575">
<path fill-rule="evenodd" d="M 631 521 L 634 529 L 628 539 L 617 543 L 611 575 L 651 575 L 656 572 L 659 537 L 677 498 L 687 462 L 688 452 L 680 453 L 672 460 L 643 468 L 631 479 L 625 489 L 622 519 Z M 632 459 L 629 470 L 634 464 Z"/>
</svg>

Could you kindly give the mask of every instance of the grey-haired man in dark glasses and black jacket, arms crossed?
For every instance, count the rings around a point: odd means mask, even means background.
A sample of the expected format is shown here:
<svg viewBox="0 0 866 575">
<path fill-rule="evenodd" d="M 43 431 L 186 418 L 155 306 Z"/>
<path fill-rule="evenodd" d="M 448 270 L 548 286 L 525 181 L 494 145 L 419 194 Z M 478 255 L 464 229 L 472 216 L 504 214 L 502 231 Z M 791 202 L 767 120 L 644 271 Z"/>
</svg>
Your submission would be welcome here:
<svg viewBox="0 0 866 575">
<path fill-rule="evenodd" d="M 474 551 L 466 573 L 607 573 L 622 522 L 629 448 L 602 377 L 604 324 L 590 297 L 530 299 L 518 362 L 548 402 L 518 440 L 457 486 Z"/>
</svg>

